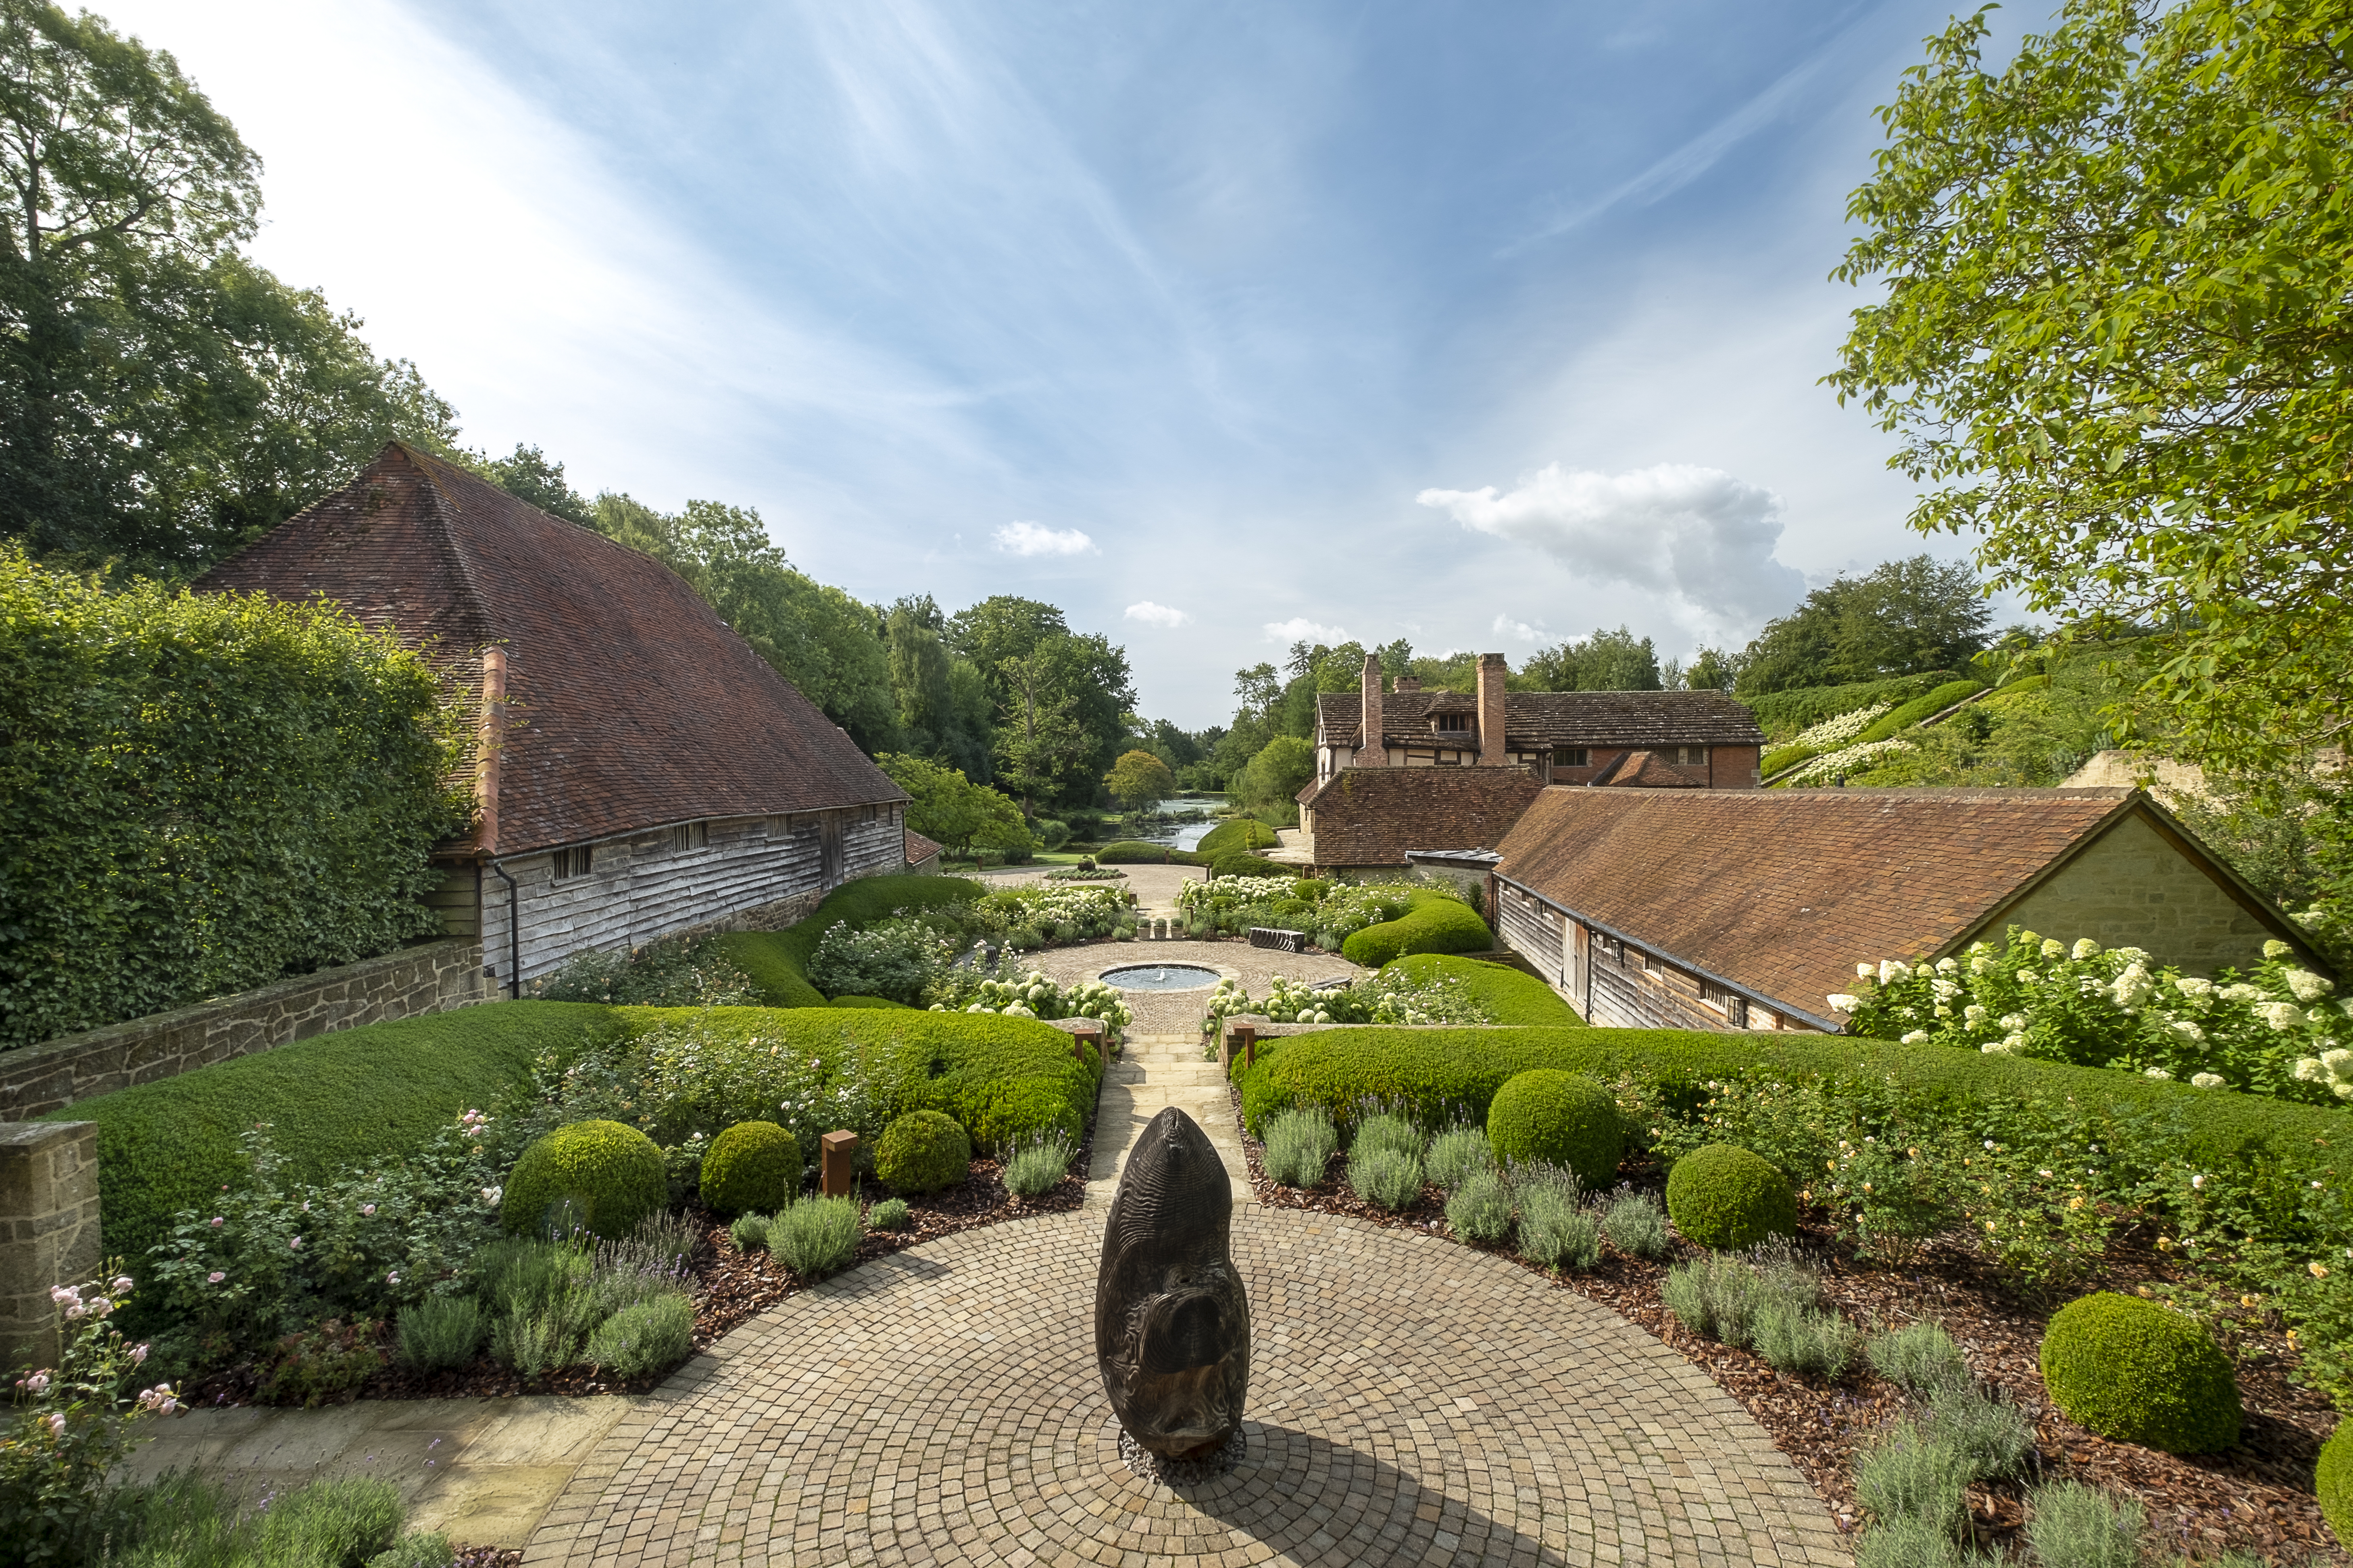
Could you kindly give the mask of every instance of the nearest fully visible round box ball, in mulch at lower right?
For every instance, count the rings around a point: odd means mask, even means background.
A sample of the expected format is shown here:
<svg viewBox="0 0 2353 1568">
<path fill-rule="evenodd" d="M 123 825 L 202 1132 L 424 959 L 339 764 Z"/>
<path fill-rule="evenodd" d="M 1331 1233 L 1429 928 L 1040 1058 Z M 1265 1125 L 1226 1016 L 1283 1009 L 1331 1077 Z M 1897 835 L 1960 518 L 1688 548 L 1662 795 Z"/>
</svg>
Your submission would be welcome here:
<svg viewBox="0 0 2353 1568">
<path fill-rule="evenodd" d="M 2238 1378 L 2205 1328 L 2137 1295 L 2099 1291 L 2042 1331 L 2042 1382 L 2087 1432 L 2214 1453 L 2238 1441 Z"/>
</svg>

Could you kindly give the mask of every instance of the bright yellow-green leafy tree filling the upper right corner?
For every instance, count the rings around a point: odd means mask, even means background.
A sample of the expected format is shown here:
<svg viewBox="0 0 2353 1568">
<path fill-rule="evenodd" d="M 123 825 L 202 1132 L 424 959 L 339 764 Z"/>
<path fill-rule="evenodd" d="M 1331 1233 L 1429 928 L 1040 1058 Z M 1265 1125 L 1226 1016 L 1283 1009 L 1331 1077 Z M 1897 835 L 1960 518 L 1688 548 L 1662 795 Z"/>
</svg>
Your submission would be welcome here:
<svg viewBox="0 0 2353 1568">
<path fill-rule="evenodd" d="M 1911 524 L 2066 628 L 2160 630 L 2193 755 L 2294 766 L 2353 686 L 2353 0 L 2071 0 L 1929 40 L 1849 200 L 1828 378 Z"/>
</svg>

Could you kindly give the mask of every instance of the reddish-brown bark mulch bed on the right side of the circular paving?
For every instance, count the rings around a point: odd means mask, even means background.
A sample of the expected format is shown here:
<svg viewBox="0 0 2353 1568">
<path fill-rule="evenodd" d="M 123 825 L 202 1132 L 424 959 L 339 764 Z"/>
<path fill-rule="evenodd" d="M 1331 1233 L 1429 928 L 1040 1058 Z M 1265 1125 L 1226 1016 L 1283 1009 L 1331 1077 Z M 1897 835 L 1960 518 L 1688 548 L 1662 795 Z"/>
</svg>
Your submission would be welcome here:
<svg viewBox="0 0 2353 1568">
<path fill-rule="evenodd" d="M 1240 1095 L 1235 1095 L 1240 1124 Z M 1259 1143 L 1242 1131 L 1249 1159 L 1249 1185 L 1268 1208 L 1304 1208 L 1348 1215 L 1395 1229 L 1447 1234 L 1445 1197 L 1426 1187 L 1421 1201 L 1402 1213 L 1386 1213 L 1360 1201 L 1341 1180 L 1344 1157 L 1334 1154 L 1332 1173 L 1315 1192 L 1278 1187 L 1266 1178 Z M 1628 1166 L 1635 1190 L 1659 1194 L 1657 1171 Z M 1817 1215 L 1819 1218 L 1819 1215 Z M 2207 1561 L 2224 1552 L 2259 1552 L 2280 1568 L 2306 1563 L 2353 1563 L 2327 1523 L 2313 1495 L 2313 1462 L 2320 1443 L 2337 1427 L 2337 1410 L 2325 1394 L 2289 1382 L 2297 1352 L 2287 1338 L 2271 1331 L 2247 1331 L 2240 1324 L 2233 1345 L 2238 1392 L 2245 1425 L 2238 1446 L 2181 1458 L 2111 1443 L 2064 1418 L 2042 1389 L 2040 1347 L 2049 1309 L 2009 1291 L 1979 1258 L 1967 1237 L 1939 1237 L 1906 1269 L 1875 1267 L 1857 1260 L 1835 1234 L 1819 1222 L 1800 1227 L 1800 1248 L 1821 1272 L 1824 1305 L 1838 1307 L 1864 1328 L 1901 1328 L 1920 1319 L 1944 1324 L 1946 1333 L 1969 1356 L 1969 1368 L 2035 1425 L 2035 1455 L 2014 1481 L 1969 1488 L 1969 1523 L 1977 1544 L 1993 1552 L 2024 1554 L 2024 1495 L 2042 1481 L 2085 1481 L 2108 1493 L 2129 1495 L 2148 1509 L 2148 1544 L 2172 1556 Z M 1701 1248 L 1675 1241 L 1675 1260 L 1699 1258 Z M 1492 1251 L 1492 1248 L 1480 1248 Z M 1885 1427 L 1913 1413 L 1906 1394 L 1854 1366 L 1845 1378 L 1798 1378 L 1777 1373 L 1760 1356 L 1718 1345 L 1685 1331 L 1659 1298 L 1671 1262 L 1642 1262 L 1605 1248 L 1588 1274 L 1546 1274 L 1537 1265 L 1508 1255 L 1529 1274 L 1555 1288 L 1577 1291 L 1619 1316 L 1638 1324 L 1687 1361 L 1715 1378 L 1718 1387 L 1741 1401 L 1762 1425 L 1774 1446 L 1805 1472 L 1831 1507 L 1842 1530 L 1864 1523 L 1854 1500 L 1849 1465 L 1857 1448 Z M 2115 1246 L 2101 1279 L 2082 1291 L 2125 1291 L 2169 1279 L 2162 1260 L 2132 1246 Z M 2078 1291 L 2078 1293 L 2082 1293 Z"/>
</svg>

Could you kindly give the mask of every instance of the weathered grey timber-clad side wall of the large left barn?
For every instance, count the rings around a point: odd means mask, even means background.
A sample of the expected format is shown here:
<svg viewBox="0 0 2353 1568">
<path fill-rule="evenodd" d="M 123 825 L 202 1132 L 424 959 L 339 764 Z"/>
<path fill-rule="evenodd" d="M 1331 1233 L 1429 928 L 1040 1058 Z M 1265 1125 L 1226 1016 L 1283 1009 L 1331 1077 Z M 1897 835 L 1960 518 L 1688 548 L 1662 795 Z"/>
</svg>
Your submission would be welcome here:
<svg viewBox="0 0 2353 1568">
<path fill-rule="evenodd" d="M 826 823 L 835 820 L 838 872 L 826 877 Z M 678 849 L 668 827 L 591 846 L 584 875 L 558 877 L 553 856 L 504 860 L 515 879 L 522 985 L 584 947 L 635 947 L 659 936 L 718 926 L 781 926 L 826 889 L 906 865 L 906 835 L 889 806 L 791 818 L 708 823 L 708 842 Z M 506 884 L 482 882 L 482 950 L 511 980 Z"/>
</svg>

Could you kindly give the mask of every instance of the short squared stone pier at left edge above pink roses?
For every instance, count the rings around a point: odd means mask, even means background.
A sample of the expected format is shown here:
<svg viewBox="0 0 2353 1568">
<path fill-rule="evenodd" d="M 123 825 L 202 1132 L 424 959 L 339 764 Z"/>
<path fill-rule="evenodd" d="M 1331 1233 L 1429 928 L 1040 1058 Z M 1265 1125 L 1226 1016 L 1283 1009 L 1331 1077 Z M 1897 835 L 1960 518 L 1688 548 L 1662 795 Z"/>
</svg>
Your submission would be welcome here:
<svg viewBox="0 0 2353 1568">
<path fill-rule="evenodd" d="M 0 1121 L 0 1368 L 56 1366 L 49 1286 L 101 1262 L 99 1124 Z"/>
</svg>

